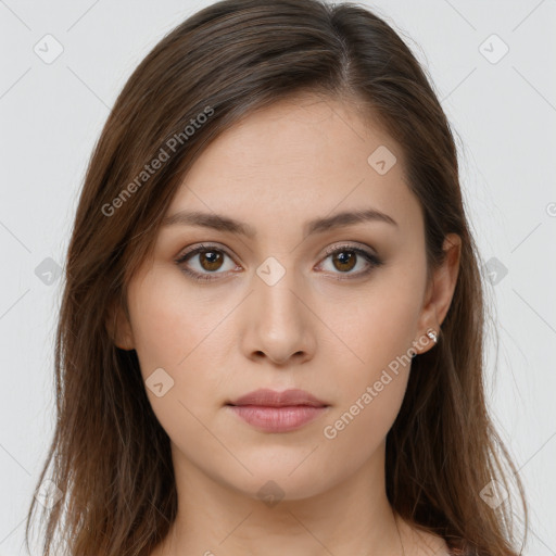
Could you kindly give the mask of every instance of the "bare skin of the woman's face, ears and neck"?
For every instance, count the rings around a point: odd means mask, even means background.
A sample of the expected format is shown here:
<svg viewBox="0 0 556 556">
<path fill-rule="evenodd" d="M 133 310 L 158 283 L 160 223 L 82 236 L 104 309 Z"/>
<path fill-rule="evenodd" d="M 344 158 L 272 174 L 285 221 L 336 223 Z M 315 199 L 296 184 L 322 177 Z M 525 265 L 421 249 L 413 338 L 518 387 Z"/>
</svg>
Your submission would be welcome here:
<svg viewBox="0 0 556 556">
<path fill-rule="evenodd" d="M 255 238 L 165 226 L 129 283 L 130 319 L 117 316 L 115 342 L 137 351 L 144 380 L 160 367 L 174 380 L 161 397 L 147 388 L 172 441 L 179 501 L 155 556 L 447 554 L 442 539 L 394 518 L 386 495 L 386 435 L 410 364 L 390 372 L 336 438 L 323 432 L 396 356 L 434 349 L 425 334 L 438 332 L 459 265 L 451 235 L 446 262 L 427 283 L 422 213 L 402 150 L 357 114 L 316 96 L 249 114 L 203 152 L 167 216 L 217 213 L 249 224 Z M 382 144 L 397 162 L 379 175 L 367 159 Z M 374 220 L 304 236 L 306 220 L 362 207 L 397 226 Z M 208 242 L 205 254 L 224 251 L 222 266 L 199 254 L 176 264 L 186 248 Z M 368 267 L 363 256 L 351 267 L 325 253 L 343 243 L 383 265 L 356 276 Z M 269 256 L 286 270 L 273 286 L 256 274 Z M 184 267 L 213 280 L 198 282 Z M 225 406 L 257 388 L 300 388 L 330 407 L 295 431 L 262 432 Z M 282 496 L 271 507 L 257 496 L 270 480 Z"/>
</svg>

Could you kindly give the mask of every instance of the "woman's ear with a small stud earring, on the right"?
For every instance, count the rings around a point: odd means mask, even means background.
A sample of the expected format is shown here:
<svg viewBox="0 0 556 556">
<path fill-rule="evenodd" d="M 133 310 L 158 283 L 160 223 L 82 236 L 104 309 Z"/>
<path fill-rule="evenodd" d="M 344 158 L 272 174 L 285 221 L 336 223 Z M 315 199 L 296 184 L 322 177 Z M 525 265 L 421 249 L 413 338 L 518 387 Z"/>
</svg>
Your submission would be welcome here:
<svg viewBox="0 0 556 556">
<path fill-rule="evenodd" d="M 419 337 L 414 342 L 416 353 L 425 353 L 434 346 L 434 342 L 427 337 L 427 331 L 432 329 L 437 337 L 439 336 L 440 325 L 446 316 L 456 288 L 462 255 L 462 238 L 456 233 L 448 233 L 444 239 L 442 249 L 445 252 L 445 260 L 442 265 L 433 270 L 431 280 L 427 286 L 419 317 Z"/>
</svg>

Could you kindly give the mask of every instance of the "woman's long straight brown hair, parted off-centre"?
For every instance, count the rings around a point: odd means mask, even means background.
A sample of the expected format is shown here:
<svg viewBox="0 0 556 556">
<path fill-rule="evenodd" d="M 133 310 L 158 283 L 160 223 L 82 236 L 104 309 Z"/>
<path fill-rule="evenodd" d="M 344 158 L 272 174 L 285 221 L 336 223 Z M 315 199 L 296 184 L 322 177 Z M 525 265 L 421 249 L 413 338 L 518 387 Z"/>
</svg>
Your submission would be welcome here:
<svg viewBox="0 0 556 556">
<path fill-rule="evenodd" d="M 206 146 L 253 110 L 300 92 L 356 101 L 362 117 L 378 118 L 403 147 L 407 185 L 424 211 L 429 271 L 442 262 L 444 237 L 462 238 L 439 344 L 414 358 L 387 435 L 389 501 L 454 554 L 518 554 L 511 497 L 493 508 L 481 496 L 491 480 L 510 490 L 506 463 L 527 538 L 523 489 L 485 404 L 486 311 L 455 142 L 426 72 L 364 5 L 225 0 L 181 23 L 140 63 L 88 166 L 55 339 L 55 432 L 38 482 L 55 485 L 52 507 L 41 513 L 45 555 L 147 556 L 167 534 L 177 511 L 169 439 L 136 352 L 114 345 L 111 307 L 127 313 L 126 285 Z M 37 507 L 33 500 L 27 547 Z"/>
</svg>

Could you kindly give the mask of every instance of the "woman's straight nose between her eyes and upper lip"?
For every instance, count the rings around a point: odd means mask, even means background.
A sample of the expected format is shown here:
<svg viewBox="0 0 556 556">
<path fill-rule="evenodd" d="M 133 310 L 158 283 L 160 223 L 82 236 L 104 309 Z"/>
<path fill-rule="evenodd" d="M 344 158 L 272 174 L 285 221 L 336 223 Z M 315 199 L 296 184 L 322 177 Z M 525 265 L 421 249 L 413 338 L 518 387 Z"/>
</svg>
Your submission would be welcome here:
<svg viewBox="0 0 556 556">
<path fill-rule="evenodd" d="M 241 348 L 247 357 L 291 366 L 314 356 L 316 316 L 302 286 L 293 271 L 276 283 L 253 276 L 254 291 L 242 307 Z"/>
</svg>

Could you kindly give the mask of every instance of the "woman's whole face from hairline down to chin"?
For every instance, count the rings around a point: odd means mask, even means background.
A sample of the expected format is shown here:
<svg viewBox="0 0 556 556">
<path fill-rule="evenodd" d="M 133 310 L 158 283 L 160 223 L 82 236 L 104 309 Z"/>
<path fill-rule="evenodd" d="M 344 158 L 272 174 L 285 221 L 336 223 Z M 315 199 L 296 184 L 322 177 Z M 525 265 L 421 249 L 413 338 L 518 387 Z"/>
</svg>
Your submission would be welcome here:
<svg viewBox="0 0 556 556">
<path fill-rule="evenodd" d="M 433 346 L 455 281 L 428 289 L 403 163 L 378 126 L 317 97 L 252 113 L 197 161 L 129 283 L 119 340 L 177 468 L 286 500 L 383 471 L 407 362 Z M 321 406 L 229 405 L 257 389 Z"/>
</svg>

